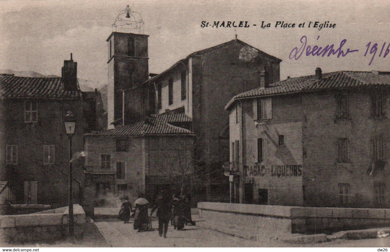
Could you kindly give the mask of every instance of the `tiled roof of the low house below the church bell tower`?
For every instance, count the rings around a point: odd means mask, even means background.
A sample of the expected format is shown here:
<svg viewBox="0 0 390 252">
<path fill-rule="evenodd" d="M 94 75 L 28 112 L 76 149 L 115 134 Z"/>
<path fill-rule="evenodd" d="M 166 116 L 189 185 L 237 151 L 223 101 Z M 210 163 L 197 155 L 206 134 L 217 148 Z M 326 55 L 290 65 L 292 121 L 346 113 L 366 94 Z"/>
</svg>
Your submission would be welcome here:
<svg viewBox="0 0 390 252">
<path fill-rule="evenodd" d="M 176 127 L 168 122 L 191 122 L 191 118 L 183 115 L 151 115 L 149 120 L 130 125 L 125 125 L 117 129 L 96 131 L 84 136 L 143 136 L 156 134 L 192 134 L 188 129 Z"/>
</svg>

